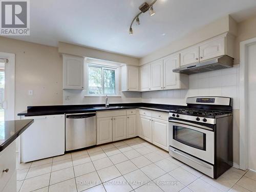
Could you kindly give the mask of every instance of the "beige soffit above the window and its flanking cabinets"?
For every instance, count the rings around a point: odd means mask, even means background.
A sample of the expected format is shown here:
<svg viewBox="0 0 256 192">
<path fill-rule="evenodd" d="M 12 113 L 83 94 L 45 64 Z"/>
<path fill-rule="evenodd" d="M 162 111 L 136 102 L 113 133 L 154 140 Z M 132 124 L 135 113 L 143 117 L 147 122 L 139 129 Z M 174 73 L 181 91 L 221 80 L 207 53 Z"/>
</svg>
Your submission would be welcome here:
<svg viewBox="0 0 256 192">
<path fill-rule="evenodd" d="M 59 53 L 66 53 L 72 55 L 79 55 L 83 57 L 91 57 L 95 59 L 103 59 L 108 61 L 125 63 L 128 65 L 139 65 L 139 59 L 134 57 L 129 57 L 125 55 L 120 55 L 116 53 L 101 51 L 97 49 L 92 49 L 84 46 L 78 46 L 73 44 L 67 44 L 66 42 L 59 42 L 58 44 Z"/>
</svg>

